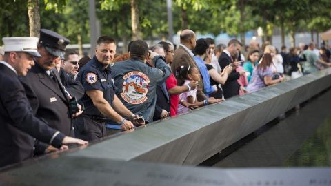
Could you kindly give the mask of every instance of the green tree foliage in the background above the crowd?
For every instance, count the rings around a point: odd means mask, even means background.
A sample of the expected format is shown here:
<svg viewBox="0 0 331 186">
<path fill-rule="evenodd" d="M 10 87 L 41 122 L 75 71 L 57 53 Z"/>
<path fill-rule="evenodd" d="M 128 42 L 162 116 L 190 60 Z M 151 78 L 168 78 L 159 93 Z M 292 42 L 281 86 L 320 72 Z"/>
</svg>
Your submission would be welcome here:
<svg viewBox="0 0 331 186">
<path fill-rule="evenodd" d="M 28 36 L 27 1 L 0 0 L 0 34 Z M 139 26 L 143 39 L 161 39 L 168 35 L 166 2 L 163 0 L 139 0 Z M 96 1 L 101 34 L 109 34 L 117 40 L 132 37 L 130 0 Z M 331 3 L 328 0 L 173 0 L 174 32 L 183 29 L 183 18 L 188 28 L 200 33 L 217 36 L 227 33 L 240 37 L 245 32 L 262 27 L 265 36 L 271 36 L 274 28 L 283 32 L 315 30 L 323 32 L 331 28 Z M 89 42 L 87 0 L 40 0 L 41 28 L 57 31 L 77 43 L 81 35 L 83 43 Z M 185 14 L 183 14 L 185 13 Z M 183 17 L 185 15 L 185 17 Z M 1 42 L 1 41 L 0 41 Z"/>
</svg>

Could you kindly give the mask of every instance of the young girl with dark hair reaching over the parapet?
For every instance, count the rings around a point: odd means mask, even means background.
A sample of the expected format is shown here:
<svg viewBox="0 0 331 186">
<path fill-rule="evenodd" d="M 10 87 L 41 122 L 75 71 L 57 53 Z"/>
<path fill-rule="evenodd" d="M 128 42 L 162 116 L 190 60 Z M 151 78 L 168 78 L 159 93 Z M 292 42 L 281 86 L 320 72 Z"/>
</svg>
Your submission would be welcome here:
<svg viewBox="0 0 331 186">
<path fill-rule="evenodd" d="M 183 86 L 189 86 L 188 84 L 190 81 L 200 81 L 200 72 L 199 70 L 192 66 L 181 66 L 179 70 L 179 75 L 181 75 L 184 79 L 185 82 L 183 83 Z M 204 101 L 197 101 L 197 87 L 194 90 L 191 90 L 189 87 L 188 92 L 183 92 L 179 95 L 179 100 L 180 102 L 188 102 L 190 104 L 196 104 L 198 107 L 201 107 L 203 105 L 208 105 L 209 103 L 217 103 L 221 101 L 221 99 L 214 99 L 214 98 L 209 98 L 205 99 Z M 179 104 L 178 109 L 177 109 L 177 114 L 184 114 L 188 112 L 190 109 L 188 107 L 184 107 L 183 105 Z"/>
</svg>

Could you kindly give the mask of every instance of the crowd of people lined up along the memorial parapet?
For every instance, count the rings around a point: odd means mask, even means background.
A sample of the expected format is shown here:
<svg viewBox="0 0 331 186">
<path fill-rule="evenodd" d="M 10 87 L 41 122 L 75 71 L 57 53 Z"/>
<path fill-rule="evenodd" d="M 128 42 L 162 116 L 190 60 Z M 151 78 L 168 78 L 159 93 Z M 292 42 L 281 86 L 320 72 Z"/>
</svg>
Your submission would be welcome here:
<svg viewBox="0 0 331 186">
<path fill-rule="evenodd" d="M 0 55 L 2 91 L 0 167 L 152 121 L 185 114 L 232 96 L 331 65 L 330 50 L 314 43 L 278 53 L 237 39 L 215 45 L 183 30 L 180 44 L 131 41 L 128 53 L 99 37 L 92 58 L 66 50 L 69 39 L 41 29 L 40 38 L 5 37 Z M 246 59 L 246 60 L 245 60 Z"/>
</svg>

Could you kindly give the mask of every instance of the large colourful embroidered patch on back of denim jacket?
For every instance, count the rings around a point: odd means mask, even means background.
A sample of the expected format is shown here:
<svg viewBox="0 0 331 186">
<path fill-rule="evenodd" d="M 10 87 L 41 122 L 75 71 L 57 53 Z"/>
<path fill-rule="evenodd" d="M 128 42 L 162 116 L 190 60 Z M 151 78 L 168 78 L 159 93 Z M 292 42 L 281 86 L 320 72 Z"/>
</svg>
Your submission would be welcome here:
<svg viewBox="0 0 331 186">
<path fill-rule="evenodd" d="M 123 76 L 121 97 L 124 101 L 130 104 L 140 104 L 145 102 L 148 98 L 148 83 L 150 79 L 141 72 L 129 72 Z"/>
</svg>

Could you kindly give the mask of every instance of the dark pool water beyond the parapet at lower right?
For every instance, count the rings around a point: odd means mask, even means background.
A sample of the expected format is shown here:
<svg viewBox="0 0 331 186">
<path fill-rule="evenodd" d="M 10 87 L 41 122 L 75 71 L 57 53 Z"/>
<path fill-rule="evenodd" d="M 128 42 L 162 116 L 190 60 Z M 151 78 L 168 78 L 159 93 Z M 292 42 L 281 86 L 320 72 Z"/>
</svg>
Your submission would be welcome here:
<svg viewBox="0 0 331 186">
<path fill-rule="evenodd" d="M 331 166 L 331 90 L 213 156 L 212 167 Z"/>
</svg>

